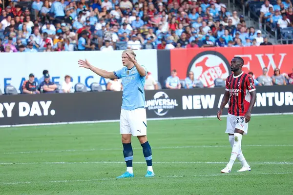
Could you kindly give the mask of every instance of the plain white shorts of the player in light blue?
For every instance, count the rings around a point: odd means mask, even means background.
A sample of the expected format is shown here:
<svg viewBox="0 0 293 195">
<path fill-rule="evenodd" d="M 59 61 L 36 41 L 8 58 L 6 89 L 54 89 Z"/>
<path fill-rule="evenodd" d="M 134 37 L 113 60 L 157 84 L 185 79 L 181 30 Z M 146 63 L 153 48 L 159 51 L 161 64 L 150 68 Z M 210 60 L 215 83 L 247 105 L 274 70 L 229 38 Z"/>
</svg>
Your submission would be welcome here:
<svg viewBox="0 0 293 195">
<path fill-rule="evenodd" d="M 132 134 L 132 136 L 146 136 L 146 109 L 121 109 L 120 134 Z"/>
</svg>

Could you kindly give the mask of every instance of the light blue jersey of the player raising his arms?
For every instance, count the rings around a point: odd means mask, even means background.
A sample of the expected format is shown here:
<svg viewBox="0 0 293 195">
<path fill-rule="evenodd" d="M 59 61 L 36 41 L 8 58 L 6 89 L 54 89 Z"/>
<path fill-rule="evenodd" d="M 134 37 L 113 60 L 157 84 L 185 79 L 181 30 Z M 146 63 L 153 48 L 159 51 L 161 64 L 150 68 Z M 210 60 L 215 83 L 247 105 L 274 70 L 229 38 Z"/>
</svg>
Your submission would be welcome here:
<svg viewBox="0 0 293 195">
<path fill-rule="evenodd" d="M 122 78 L 123 96 L 122 109 L 134 110 L 137 108 L 145 108 L 145 90 L 146 77 L 140 76 L 136 67 L 130 70 L 126 67 L 115 71 L 114 75 L 119 79 Z"/>
</svg>

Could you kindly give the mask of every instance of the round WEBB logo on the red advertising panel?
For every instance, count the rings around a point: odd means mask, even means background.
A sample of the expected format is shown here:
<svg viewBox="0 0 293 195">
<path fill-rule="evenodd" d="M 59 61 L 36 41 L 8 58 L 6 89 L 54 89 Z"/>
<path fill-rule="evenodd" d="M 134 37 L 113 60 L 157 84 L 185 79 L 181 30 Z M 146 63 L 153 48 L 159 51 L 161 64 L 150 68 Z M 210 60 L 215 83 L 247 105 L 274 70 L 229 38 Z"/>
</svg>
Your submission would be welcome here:
<svg viewBox="0 0 293 195">
<path fill-rule="evenodd" d="M 222 54 L 206 51 L 191 60 L 188 72 L 192 71 L 194 78 L 199 79 L 205 87 L 213 87 L 216 78 L 227 78 L 230 75 L 229 67 L 229 61 Z"/>
</svg>

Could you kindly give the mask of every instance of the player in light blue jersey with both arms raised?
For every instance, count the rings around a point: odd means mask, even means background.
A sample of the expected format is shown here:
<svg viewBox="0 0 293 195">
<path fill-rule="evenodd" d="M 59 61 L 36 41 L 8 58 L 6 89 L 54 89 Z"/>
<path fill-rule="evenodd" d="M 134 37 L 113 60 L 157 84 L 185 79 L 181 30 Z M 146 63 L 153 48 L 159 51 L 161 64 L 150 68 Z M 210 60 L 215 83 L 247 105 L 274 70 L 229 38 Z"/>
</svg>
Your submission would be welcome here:
<svg viewBox="0 0 293 195">
<path fill-rule="evenodd" d="M 146 69 L 139 65 L 135 53 L 126 49 L 122 53 L 124 67 L 115 72 L 108 72 L 92 66 L 86 59 L 80 59 L 80 67 L 90 69 L 104 78 L 122 78 L 123 97 L 120 114 L 120 134 L 122 135 L 123 154 L 126 161 L 126 172 L 117 178 L 133 177 L 131 135 L 136 136 L 143 148 L 146 159 L 146 177 L 155 176 L 152 169 L 151 148 L 146 137 L 145 91 Z"/>
</svg>

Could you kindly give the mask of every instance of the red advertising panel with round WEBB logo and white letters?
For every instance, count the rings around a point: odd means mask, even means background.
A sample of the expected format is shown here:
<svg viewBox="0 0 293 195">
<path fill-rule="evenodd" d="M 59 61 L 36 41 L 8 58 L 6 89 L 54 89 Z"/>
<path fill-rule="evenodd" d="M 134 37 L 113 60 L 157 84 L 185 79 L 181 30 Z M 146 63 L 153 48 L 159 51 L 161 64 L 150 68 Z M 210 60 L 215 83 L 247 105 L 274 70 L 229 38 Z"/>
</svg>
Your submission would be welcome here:
<svg viewBox="0 0 293 195">
<path fill-rule="evenodd" d="M 293 68 L 293 45 L 272 45 L 259 47 L 214 47 L 173 49 L 171 52 L 171 70 L 176 69 L 178 77 L 184 79 L 188 71 L 194 78 L 200 79 L 207 87 L 214 85 L 215 78 L 227 78 L 230 60 L 239 56 L 244 59 L 242 70 L 253 72 L 255 78 L 262 74 L 264 67 L 268 75 L 279 68 L 281 73 L 291 73 Z"/>
</svg>

